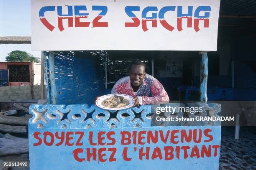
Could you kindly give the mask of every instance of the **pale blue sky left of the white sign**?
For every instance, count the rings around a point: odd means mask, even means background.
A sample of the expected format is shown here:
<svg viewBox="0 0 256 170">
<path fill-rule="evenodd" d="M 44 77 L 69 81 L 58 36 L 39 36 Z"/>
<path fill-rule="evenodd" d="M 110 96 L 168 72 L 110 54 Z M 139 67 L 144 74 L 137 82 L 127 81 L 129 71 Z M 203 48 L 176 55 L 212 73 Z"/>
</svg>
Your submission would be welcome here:
<svg viewBox="0 0 256 170">
<path fill-rule="evenodd" d="M 0 0 L 0 36 L 31 36 L 31 0 Z M 31 44 L 0 44 L 0 61 L 14 50 L 41 58 L 41 51 L 31 51 Z"/>
</svg>

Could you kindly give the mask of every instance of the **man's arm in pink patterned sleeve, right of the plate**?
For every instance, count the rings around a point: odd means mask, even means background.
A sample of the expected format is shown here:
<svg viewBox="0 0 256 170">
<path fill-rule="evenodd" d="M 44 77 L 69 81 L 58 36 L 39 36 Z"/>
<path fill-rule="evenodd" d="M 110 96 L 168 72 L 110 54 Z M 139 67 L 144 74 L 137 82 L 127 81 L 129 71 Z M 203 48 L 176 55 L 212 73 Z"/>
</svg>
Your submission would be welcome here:
<svg viewBox="0 0 256 170">
<path fill-rule="evenodd" d="M 169 96 L 164 90 L 163 85 L 155 80 L 151 86 L 152 97 L 138 96 L 138 101 L 141 105 L 145 104 L 164 104 L 169 103 Z"/>
</svg>

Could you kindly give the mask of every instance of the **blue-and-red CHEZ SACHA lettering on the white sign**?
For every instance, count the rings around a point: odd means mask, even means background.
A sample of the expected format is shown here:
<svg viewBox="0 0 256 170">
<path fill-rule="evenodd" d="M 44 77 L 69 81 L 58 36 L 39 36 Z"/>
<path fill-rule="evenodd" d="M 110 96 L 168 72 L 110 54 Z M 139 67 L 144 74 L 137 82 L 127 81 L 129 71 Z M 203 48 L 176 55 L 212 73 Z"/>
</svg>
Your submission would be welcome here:
<svg viewBox="0 0 256 170">
<path fill-rule="evenodd" d="M 67 14 L 62 12 L 62 8 L 67 8 Z M 104 20 L 104 16 L 108 13 L 108 6 L 92 5 L 90 7 L 92 11 L 97 11 L 97 16 L 92 20 L 87 20 L 86 22 L 81 21 L 80 19 L 87 19 L 90 13 L 85 12 L 89 8 L 86 5 L 65 5 L 57 6 L 57 15 L 58 15 L 58 28 L 60 31 L 63 31 L 63 20 L 68 20 L 68 27 L 89 27 L 92 23 L 92 27 L 108 27 L 108 21 Z M 49 23 L 45 17 L 45 13 L 55 11 L 55 6 L 44 6 L 39 10 L 39 17 L 41 22 L 46 28 L 50 31 L 54 30 L 54 25 Z M 74 10 L 73 10 L 74 9 Z M 141 17 L 137 16 L 135 13 L 141 11 Z M 204 28 L 209 28 L 209 17 L 210 17 L 210 6 L 165 6 L 158 8 L 156 6 L 147 6 L 141 9 L 140 6 L 126 6 L 124 12 L 128 17 L 131 18 L 132 22 L 124 22 L 125 27 L 138 27 L 141 25 L 142 30 L 145 32 L 148 30 L 147 23 L 151 22 L 152 27 L 157 27 L 157 18 L 159 19 L 160 24 L 169 31 L 174 30 L 174 26 L 177 26 L 178 31 L 182 31 L 182 19 L 187 19 L 187 28 L 192 28 L 192 17 L 194 17 L 194 29 L 196 32 L 200 30 L 199 21 L 202 20 L 204 23 Z M 164 14 L 167 12 L 177 13 L 177 25 L 171 25 L 169 20 L 164 18 Z M 150 16 L 149 16 L 150 15 Z M 157 16 L 158 15 L 158 16 Z M 99 21 L 101 20 L 101 22 Z"/>
</svg>

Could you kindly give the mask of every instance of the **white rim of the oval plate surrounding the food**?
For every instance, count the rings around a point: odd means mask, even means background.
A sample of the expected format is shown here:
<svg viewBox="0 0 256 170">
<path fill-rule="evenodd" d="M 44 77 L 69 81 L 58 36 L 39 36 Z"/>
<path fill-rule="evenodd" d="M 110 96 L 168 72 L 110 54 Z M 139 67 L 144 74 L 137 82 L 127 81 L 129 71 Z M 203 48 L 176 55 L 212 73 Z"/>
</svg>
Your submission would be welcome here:
<svg viewBox="0 0 256 170">
<path fill-rule="evenodd" d="M 133 97 L 132 96 L 129 96 L 129 95 L 126 95 L 126 94 L 115 94 L 117 96 L 122 96 L 124 97 L 125 99 L 127 99 L 129 101 L 130 104 L 128 104 L 127 106 L 125 107 L 119 107 L 119 108 L 111 108 L 111 107 L 105 107 L 102 105 L 102 101 L 104 101 L 105 99 L 107 98 L 110 98 L 111 96 L 113 96 L 114 94 L 107 94 L 107 95 L 104 95 L 104 96 L 100 96 L 100 98 L 96 101 L 96 105 L 97 107 L 100 107 L 102 109 L 106 109 L 106 110 L 123 110 L 123 109 L 128 109 L 129 107 L 132 107 L 133 104 L 134 104 L 134 100 L 133 100 Z"/>
</svg>

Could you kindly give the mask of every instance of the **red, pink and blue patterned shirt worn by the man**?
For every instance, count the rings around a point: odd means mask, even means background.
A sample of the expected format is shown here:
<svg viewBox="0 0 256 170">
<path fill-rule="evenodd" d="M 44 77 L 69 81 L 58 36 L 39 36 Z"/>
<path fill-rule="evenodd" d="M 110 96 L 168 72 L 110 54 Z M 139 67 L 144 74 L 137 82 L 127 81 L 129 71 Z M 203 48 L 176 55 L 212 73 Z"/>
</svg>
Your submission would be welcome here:
<svg viewBox="0 0 256 170">
<path fill-rule="evenodd" d="M 162 84 L 149 74 L 145 74 L 136 95 L 131 87 L 130 76 L 118 80 L 111 93 L 127 94 L 133 97 L 138 96 L 138 101 L 141 105 L 169 103 L 169 96 Z"/>
</svg>

